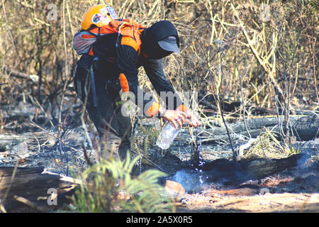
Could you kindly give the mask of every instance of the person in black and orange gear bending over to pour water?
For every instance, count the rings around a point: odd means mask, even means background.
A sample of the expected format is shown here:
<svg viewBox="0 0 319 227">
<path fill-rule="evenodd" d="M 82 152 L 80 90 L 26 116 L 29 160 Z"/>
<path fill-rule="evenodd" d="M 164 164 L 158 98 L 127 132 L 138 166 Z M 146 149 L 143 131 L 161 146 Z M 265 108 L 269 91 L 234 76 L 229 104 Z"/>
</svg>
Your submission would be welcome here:
<svg viewBox="0 0 319 227">
<path fill-rule="evenodd" d="M 144 28 L 131 20 L 118 19 L 108 5 L 92 6 L 82 18 L 82 31 L 74 35 L 74 49 L 82 55 L 77 62 L 74 87 L 99 132 L 101 157 L 121 159 L 130 150 L 131 123 L 123 113 L 120 92 L 135 96 L 135 104 L 146 117 L 159 116 L 180 126 L 200 126 L 179 96 L 161 106 L 152 97 L 145 99 L 138 87 L 138 68 L 144 67 L 156 92 L 175 90 L 162 68 L 163 57 L 179 52 L 179 35 L 169 21 Z"/>
</svg>

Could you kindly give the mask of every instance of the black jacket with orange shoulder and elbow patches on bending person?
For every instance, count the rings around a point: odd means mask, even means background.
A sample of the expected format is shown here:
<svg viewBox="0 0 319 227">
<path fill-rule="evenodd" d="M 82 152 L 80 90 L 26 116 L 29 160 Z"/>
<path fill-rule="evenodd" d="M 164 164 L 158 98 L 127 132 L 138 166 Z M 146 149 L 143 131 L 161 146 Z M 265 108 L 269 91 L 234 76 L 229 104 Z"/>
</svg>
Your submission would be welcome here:
<svg viewBox="0 0 319 227">
<path fill-rule="evenodd" d="M 77 74 L 81 74 L 81 70 L 87 70 L 90 67 L 94 57 L 98 57 L 99 61 L 94 65 L 94 77 L 105 78 L 123 89 L 123 92 L 133 92 L 135 94 L 135 104 L 144 110 L 145 105 L 150 108 L 145 111 L 145 116 L 151 117 L 158 113 L 159 104 L 150 99 L 138 101 L 138 92 L 144 92 L 138 86 L 138 68 L 144 67 L 147 77 L 150 79 L 152 86 L 156 92 L 172 92 L 175 90 L 165 76 L 162 68 L 161 60 L 151 60 L 143 56 L 140 46 L 137 45 L 133 38 L 111 33 L 101 36 L 96 40 L 89 53 L 82 55 L 77 62 Z M 120 87 L 121 86 L 121 87 Z M 174 96 L 174 104 L 168 104 L 165 101 L 165 109 L 181 109 L 186 107 L 182 104 L 178 95 Z M 147 106 L 147 107 L 148 107 Z"/>
</svg>

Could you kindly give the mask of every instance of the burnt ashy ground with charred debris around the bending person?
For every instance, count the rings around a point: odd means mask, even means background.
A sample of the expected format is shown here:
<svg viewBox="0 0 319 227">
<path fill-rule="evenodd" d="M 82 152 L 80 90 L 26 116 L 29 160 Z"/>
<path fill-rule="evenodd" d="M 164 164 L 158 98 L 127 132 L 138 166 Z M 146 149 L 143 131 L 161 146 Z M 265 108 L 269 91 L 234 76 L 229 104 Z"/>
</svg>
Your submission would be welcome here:
<svg viewBox="0 0 319 227">
<path fill-rule="evenodd" d="M 74 109 L 80 109 L 75 106 Z M 6 111 L 7 110 L 7 111 Z M 86 147 L 91 160 L 95 153 L 85 139 L 77 111 L 68 114 L 62 133 L 52 127 L 47 116 L 38 114 L 29 104 L 14 109 L 1 106 L 0 166 L 44 166 L 60 175 L 74 176 L 88 167 Z M 52 124 L 57 122 L 52 118 Z M 179 182 L 185 193 L 174 194 L 177 212 L 318 212 L 319 140 L 296 141 L 298 156 L 280 170 L 254 174 L 233 161 L 230 144 L 200 143 L 195 148 L 187 128 L 183 128 L 169 150 L 155 145 L 159 133 L 157 119 L 138 120 L 132 138 L 132 150 L 147 158 L 139 162 L 138 172 L 159 168 L 167 178 Z M 94 127 L 88 127 L 94 138 Z M 200 129 L 198 129 L 200 130 Z M 196 131 L 193 132 L 196 134 Z M 233 141 L 235 148 L 247 142 Z M 201 160 L 194 161 L 198 150 Z M 246 160 L 252 163 L 253 160 Z M 242 162 L 243 163 L 243 162 Z M 251 165 L 248 166 L 251 166 Z M 279 164 L 281 165 L 281 164 Z M 258 165 L 257 165 L 258 166 Z M 276 165 L 274 165 L 276 166 Z"/>
</svg>

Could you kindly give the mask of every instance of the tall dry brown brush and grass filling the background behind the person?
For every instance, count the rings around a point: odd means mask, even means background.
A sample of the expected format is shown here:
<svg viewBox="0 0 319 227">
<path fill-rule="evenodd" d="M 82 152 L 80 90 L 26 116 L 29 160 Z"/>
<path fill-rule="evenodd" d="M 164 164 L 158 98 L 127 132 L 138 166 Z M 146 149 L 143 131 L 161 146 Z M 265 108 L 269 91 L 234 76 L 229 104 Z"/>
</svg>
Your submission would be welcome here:
<svg viewBox="0 0 319 227">
<path fill-rule="evenodd" d="M 269 108 L 319 104 L 318 3 L 313 0 L 269 4 L 252 0 L 57 0 L 53 6 L 35 0 L 2 3 L 0 84 L 7 84 L 1 86 L 0 102 L 16 104 L 28 95 L 34 97 L 39 103 L 34 99 L 33 103 L 43 105 L 43 111 L 57 118 L 60 128 L 65 122 L 61 116 L 64 97 L 74 96 L 72 79 L 79 56 L 72 49 L 72 37 L 86 9 L 101 3 L 110 3 L 119 16 L 144 26 L 163 19 L 174 23 L 181 37 L 181 54 L 164 59 L 164 70 L 177 91 L 196 91 L 198 100 L 213 95 Z M 218 40 L 226 45 L 220 47 Z M 39 81 L 9 77 L 4 67 L 36 74 Z M 144 70 L 140 70 L 140 86 L 152 89 Z M 205 125 L 216 119 L 204 112 L 203 106 L 193 104 Z"/>
</svg>

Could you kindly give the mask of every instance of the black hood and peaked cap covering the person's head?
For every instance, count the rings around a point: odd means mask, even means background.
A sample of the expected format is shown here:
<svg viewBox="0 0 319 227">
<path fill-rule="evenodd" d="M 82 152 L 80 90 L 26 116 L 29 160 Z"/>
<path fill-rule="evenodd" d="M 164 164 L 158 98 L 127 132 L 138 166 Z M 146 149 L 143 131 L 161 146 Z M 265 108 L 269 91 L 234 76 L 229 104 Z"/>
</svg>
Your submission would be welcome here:
<svg viewBox="0 0 319 227">
<path fill-rule="evenodd" d="M 160 59 L 172 52 L 179 52 L 179 35 L 170 21 L 159 21 L 145 28 L 141 40 L 142 52 L 150 59 Z"/>
</svg>

